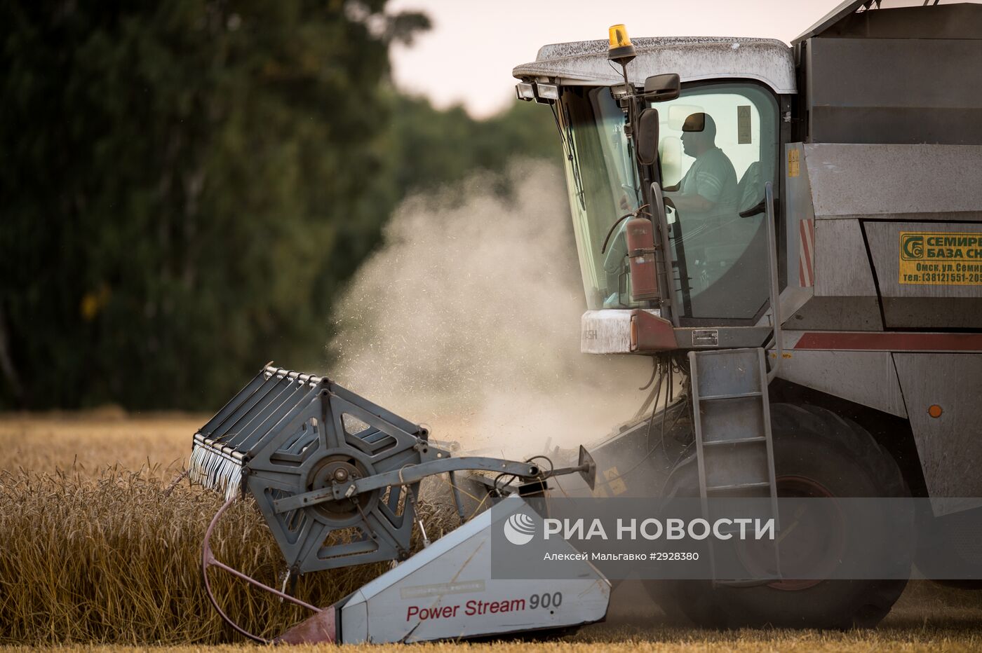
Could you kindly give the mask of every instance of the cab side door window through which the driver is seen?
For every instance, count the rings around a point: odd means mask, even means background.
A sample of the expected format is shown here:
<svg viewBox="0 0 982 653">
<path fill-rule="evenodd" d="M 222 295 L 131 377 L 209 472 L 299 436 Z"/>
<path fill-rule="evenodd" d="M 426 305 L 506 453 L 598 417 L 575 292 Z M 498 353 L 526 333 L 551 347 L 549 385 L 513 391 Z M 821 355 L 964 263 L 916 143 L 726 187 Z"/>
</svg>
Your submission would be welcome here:
<svg viewBox="0 0 982 653">
<path fill-rule="evenodd" d="M 728 83 L 689 87 L 654 106 L 673 207 L 676 311 L 700 322 L 752 320 L 769 297 L 763 199 L 776 178 L 777 102 L 756 84 Z"/>
</svg>

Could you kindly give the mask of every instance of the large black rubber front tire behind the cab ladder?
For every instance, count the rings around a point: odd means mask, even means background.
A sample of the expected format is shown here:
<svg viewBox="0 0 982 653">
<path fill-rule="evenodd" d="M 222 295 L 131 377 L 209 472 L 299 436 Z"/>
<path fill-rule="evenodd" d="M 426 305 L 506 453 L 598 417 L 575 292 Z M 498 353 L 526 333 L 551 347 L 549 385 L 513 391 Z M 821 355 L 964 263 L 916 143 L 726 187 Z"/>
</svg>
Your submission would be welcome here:
<svg viewBox="0 0 982 653">
<path fill-rule="evenodd" d="M 910 495 L 893 457 L 855 423 L 816 406 L 774 404 L 771 425 L 779 479 L 813 478 L 839 497 Z M 694 467 L 692 461 L 680 465 L 667 494 L 698 496 Z M 909 530 L 907 526 L 900 525 L 900 531 L 909 532 L 907 539 L 912 539 L 912 514 Z M 898 532 L 898 525 L 893 523 L 892 529 Z M 912 542 L 909 550 L 889 548 L 895 569 L 909 573 Z M 651 582 L 649 591 L 666 613 L 682 613 L 703 628 L 872 628 L 890 612 L 906 582 L 823 580 L 787 590 L 763 584 L 713 587 L 708 580 L 672 580 Z"/>
</svg>

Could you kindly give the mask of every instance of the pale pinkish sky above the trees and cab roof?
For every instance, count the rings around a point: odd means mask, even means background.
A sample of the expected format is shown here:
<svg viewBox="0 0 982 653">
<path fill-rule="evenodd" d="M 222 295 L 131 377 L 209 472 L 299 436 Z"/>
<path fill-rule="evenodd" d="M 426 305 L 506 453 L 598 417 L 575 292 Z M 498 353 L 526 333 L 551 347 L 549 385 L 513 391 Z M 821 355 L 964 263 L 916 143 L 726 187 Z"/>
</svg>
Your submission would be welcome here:
<svg viewBox="0 0 982 653">
<path fill-rule="evenodd" d="M 515 100 L 512 69 L 547 43 L 607 38 L 623 23 L 634 36 L 761 36 L 786 42 L 841 0 L 391 0 L 389 12 L 416 10 L 433 28 L 392 52 L 403 90 L 440 108 L 463 104 L 485 118 Z M 887 0 L 894 5 L 919 0 Z"/>
</svg>

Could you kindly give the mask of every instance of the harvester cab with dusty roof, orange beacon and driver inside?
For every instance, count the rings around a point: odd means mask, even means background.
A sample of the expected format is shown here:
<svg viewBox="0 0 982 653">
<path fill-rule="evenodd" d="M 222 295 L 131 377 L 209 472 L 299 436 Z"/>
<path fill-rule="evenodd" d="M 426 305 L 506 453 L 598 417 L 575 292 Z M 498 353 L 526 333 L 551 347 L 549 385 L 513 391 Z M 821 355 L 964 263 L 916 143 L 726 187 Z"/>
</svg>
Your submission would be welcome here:
<svg viewBox="0 0 982 653">
<path fill-rule="evenodd" d="M 761 346 L 773 330 L 765 194 L 780 185 L 791 137 L 789 48 L 634 44 L 624 25 L 610 31 L 609 42 L 547 45 L 515 69 L 518 97 L 547 103 L 560 127 L 588 309 L 583 351 Z M 726 75 L 740 68 L 751 70 Z"/>
</svg>

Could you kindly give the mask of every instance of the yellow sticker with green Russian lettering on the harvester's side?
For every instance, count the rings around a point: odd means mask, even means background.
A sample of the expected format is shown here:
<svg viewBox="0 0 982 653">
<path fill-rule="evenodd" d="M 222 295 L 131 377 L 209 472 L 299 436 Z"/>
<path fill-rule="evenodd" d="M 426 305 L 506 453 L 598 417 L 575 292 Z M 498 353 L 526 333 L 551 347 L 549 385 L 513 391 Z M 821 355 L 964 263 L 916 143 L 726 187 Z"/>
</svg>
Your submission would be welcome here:
<svg viewBox="0 0 982 653">
<path fill-rule="evenodd" d="M 899 281 L 982 285 L 982 232 L 900 231 Z"/>
</svg>

